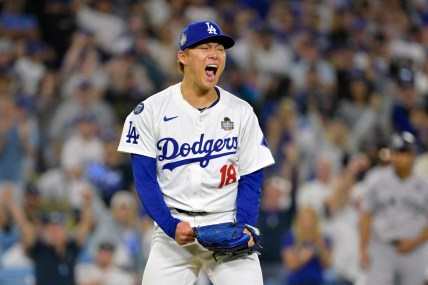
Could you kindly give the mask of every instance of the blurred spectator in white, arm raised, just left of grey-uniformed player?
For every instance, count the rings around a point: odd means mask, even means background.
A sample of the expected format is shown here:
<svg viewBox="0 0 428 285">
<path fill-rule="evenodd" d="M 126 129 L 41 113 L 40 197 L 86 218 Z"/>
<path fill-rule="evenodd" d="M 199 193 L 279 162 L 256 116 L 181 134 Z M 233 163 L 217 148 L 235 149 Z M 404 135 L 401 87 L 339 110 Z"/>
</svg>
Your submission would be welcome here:
<svg viewBox="0 0 428 285">
<path fill-rule="evenodd" d="M 335 285 L 352 285 L 363 278 L 359 266 L 358 216 L 364 174 L 370 167 L 365 154 L 352 157 L 335 178 L 324 199 L 323 232 L 331 239 L 331 269 Z"/>
</svg>

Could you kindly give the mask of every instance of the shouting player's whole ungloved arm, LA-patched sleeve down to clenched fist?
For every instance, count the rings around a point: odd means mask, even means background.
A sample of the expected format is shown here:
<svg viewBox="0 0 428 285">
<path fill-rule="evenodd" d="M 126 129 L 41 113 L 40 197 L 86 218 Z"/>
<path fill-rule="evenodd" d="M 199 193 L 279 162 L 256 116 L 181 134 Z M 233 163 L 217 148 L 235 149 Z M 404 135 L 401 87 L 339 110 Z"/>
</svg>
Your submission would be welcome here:
<svg viewBox="0 0 428 285">
<path fill-rule="evenodd" d="M 193 230 L 174 218 L 167 207 L 156 176 L 156 127 L 153 102 L 141 102 L 129 114 L 123 126 L 118 151 L 131 154 L 138 197 L 147 214 L 179 244 L 193 241 Z"/>
</svg>

